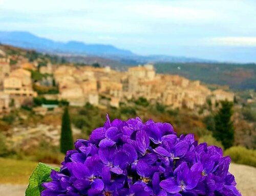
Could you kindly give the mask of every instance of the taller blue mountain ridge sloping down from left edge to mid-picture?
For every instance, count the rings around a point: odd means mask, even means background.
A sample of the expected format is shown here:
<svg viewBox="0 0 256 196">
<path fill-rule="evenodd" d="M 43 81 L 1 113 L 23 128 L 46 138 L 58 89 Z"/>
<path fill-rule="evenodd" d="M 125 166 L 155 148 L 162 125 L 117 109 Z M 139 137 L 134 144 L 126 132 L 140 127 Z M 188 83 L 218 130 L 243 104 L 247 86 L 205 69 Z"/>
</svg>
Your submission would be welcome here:
<svg viewBox="0 0 256 196">
<path fill-rule="evenodd" d="M 29 32 L 0 31 L 0 42 L 16 47 L 34 49 L 41 52 L 70 53 L 97 56 L 132 56 L 131 51 L 118 49 L 111 45 L 86 44 L 79 41 L 58 42 L 37 37 Z"/>
</svg>

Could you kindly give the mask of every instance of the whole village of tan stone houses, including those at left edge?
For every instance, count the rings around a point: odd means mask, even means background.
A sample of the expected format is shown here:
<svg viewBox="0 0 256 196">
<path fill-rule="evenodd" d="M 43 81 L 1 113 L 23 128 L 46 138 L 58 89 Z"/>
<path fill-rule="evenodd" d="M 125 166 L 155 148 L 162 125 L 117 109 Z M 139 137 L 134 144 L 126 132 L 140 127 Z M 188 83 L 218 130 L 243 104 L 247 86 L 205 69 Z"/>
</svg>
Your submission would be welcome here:
<svg viewBox="0 0 256 196">
<path fill-rule="evenodd" d="M 126 72 L 110 67 L 75 67 L 72 64 L 40 64 L 29 59 L 6 56 L 0 58 L 0 112 L 10 106 L 18 108 L 37 96 L 65 100 L 71 106 L 87 102 L 104 107 L 119 107 L 121 102 L 145 98 L 174 108 L 194 109 L 207 100 L 214 105 L 221 100 L 233 101 L 234 94 L 221 89 L 209 90 L 200 81 L 178 75 L 157 74 L 153 64 L 130 67 Z M 35 76 L 39 75 L 39 79 Z M 51 91 L 55 90 L 55 91 Z M 44 106 L 42 106 L 44 107 Z M 40 107 L 36 108 L 40 111 Z M 41 108 L 41 110 L 44 110 Z"/>
</svg>

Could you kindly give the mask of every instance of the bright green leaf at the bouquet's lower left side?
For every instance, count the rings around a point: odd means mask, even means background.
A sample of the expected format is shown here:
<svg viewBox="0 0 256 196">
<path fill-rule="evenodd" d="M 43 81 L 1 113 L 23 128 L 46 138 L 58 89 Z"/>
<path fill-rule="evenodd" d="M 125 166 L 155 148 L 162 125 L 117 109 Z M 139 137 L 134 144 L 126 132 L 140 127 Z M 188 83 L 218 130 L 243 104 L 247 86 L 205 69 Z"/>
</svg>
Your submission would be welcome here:
<svg viewBox="0 0 256 196">
<path fill-rule="evenodd" d="M 32 175 L 29 177 L 29 185 L 25 195 L 40 196 L 41 191 L 44 189 L 41 184 L 51 181 L 50 173 L 52 169 L 59 171 L 58 167 L 53 168 L 44 163 L 38 163 Z"/>
</svg>

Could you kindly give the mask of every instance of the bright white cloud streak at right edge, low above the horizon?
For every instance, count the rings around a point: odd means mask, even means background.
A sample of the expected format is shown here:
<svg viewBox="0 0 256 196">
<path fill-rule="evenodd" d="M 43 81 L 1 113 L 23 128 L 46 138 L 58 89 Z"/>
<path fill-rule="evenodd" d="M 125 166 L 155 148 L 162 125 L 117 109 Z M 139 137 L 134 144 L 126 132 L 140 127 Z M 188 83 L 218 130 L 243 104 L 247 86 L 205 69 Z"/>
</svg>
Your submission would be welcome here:
<svg viewBox="0 0 256 196">
<path fill-rule="evenodd" d="M 256 37 L 213 37 L 208 39 L 208 43 L 221 46 L 256 47 Z"/>
</svg>

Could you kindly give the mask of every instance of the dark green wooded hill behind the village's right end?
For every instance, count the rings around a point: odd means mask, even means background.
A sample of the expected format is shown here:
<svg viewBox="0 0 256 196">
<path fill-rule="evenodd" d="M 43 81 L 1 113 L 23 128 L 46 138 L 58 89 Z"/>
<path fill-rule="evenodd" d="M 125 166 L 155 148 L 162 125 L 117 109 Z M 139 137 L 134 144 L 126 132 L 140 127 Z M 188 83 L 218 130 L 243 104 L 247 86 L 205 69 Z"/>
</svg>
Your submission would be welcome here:
<svg viewBox="0 0 256 196">
<path fill-rule="evenodd" d="M 158 73 L 177 74 L 232 89 L 256 90 L 256 64 L 236 63 L 156 63 Z"/>
</svg>

